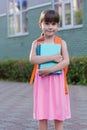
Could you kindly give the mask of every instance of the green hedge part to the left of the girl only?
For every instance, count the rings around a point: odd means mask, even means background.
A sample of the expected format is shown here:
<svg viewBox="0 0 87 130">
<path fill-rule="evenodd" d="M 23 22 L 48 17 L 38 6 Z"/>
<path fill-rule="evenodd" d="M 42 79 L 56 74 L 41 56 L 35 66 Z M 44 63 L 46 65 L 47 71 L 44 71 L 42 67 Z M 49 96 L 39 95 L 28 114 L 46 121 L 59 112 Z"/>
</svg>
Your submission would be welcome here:
<svg viewBox="0 0 87 130">
<path fill-rule="evenodd" d="M 33 65 L 28 60 L 0 61 L 0 79 L 18 82 L 28 82 Z"/>
</svg>

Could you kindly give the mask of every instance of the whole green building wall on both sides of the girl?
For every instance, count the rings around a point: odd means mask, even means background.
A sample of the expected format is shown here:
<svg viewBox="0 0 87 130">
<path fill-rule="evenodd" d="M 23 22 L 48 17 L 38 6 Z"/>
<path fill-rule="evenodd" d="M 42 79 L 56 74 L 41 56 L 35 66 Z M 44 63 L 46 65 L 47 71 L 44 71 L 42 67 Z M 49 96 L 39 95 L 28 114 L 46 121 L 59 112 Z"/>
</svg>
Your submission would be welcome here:
<svg viewBox="0 0 87 130">
<path fill-rule="evenodd" d="M 0 59 L 23 59 L 29 57 L 32 41 L 39 37 L 41 30 L 38 26 L 40 13 L 51 6 L 40 7 L 28 11 L 29 35 L 8 37 L 7 16 L 0 17 Z M 87 1 L 83 3 L 83 27 L 61 30 L 57 33 L 68 45 L 70 56 L 87 55 Z"/>
</svg>

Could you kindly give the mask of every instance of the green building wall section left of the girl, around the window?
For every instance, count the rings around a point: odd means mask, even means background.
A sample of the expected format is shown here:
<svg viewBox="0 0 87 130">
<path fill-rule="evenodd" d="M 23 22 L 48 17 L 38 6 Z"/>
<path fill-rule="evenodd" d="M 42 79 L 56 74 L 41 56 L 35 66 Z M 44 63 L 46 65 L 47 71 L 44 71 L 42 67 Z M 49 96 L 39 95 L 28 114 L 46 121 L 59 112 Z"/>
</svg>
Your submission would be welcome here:
<svg viewBox="0 0 87 130">
<path fill-rule="evenodd" d="M 0 59 L 28 58 L 32 41 L 39 37 L 41 30 L 38 26 L 39 15 L 42 10 L 50 7 L 41 7 L 29 10 L 29 34 L 19 37 L 8 37 L 7 17 L 0 17 Z"/>
</svg>

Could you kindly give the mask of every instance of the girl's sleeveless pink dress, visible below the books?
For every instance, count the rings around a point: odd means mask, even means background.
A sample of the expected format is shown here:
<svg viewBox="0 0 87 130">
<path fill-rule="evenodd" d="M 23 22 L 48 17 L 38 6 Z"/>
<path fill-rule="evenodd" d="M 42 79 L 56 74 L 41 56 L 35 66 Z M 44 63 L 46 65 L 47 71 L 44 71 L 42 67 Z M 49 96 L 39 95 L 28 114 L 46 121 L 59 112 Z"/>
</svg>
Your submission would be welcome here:
<svg viewBox="0 0 87 130">
<path fill-rule="evenodd" d="M 71 117 L 69 94 L 64 91 L 64 73 L 41 77 L 34 81 L 34 119 L 65 120 Z"/>
</svg>

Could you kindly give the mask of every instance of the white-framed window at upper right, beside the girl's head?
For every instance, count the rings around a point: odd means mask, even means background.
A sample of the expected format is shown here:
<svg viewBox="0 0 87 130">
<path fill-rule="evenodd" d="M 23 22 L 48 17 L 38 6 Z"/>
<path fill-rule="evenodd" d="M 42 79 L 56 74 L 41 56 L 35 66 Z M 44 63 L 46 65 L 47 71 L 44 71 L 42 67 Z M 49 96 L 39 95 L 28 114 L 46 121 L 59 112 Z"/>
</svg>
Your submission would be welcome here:
<svg viewBox="0 0 87 130">
<path fill-rule="evenodd" d="M 54 0 L 54 9 L 60 15 L 60 27 L 74 27 L 82 24 L 83 0 Z"/>
</svg>

